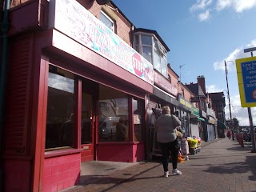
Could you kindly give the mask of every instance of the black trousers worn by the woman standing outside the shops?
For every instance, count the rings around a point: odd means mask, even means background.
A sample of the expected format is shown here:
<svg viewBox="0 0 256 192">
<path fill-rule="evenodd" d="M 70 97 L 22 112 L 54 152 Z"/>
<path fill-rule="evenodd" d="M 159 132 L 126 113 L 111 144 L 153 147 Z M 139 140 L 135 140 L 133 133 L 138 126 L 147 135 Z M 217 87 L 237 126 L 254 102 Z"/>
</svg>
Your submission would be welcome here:
<svg viewBox="0 0 256 192">
<path fill-rule="evenodd" d="M 169 165 L 169 156 L 171 154 L 171 162 L 173 165 L 173 169 L 177 169 L 178 165 L 178 140 L 176 139 L 174 142 L 159 142 L 159 146 L 162 152 L 162 166 L 164 171 L 168 171 Z"/>
</svg>

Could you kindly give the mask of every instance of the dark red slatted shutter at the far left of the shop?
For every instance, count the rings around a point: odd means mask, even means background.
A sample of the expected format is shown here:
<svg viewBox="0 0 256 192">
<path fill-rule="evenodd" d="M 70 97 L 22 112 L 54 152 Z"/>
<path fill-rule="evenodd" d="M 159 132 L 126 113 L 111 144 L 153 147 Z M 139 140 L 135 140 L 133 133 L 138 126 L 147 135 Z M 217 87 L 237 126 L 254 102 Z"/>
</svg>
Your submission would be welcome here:
<svg viewBox="0 0 256 192">
<path fill-rule="evenodd" d="M 13 38 L 9 43 L 4 114 L 5 154 L 22 155 L 28 149 L 32 48 L 29 35 Z"/>
</svg>

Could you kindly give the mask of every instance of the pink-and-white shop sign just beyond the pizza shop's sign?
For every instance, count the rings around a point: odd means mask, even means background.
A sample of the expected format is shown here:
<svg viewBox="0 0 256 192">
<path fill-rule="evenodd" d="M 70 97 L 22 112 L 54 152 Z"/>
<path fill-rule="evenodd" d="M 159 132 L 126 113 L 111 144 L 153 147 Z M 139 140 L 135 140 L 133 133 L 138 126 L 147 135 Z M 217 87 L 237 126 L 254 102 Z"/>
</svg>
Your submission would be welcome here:
<svg viewBox="0 0 256 192">
<path fill-rule="evenodd" d="M 177 86 L 172 85 L 162 74 L 158 74 L 156 71 L 154 71 L 154 84 L 166 90 L 169 94 L 174 96 L 178 94 Z"/>
</svg>

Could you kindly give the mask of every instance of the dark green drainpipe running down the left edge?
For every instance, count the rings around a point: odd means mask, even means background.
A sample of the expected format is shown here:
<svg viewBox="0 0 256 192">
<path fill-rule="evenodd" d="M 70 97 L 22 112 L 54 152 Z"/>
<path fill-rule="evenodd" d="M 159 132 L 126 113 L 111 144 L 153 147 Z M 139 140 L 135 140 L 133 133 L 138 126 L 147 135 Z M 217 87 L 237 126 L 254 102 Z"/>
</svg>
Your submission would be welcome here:
<svg viewBox="0 0 256 192">
<path fill-rule="evenodd" d="M 3 130 L 3 112 L 4 96 L 6 86 L 6 57 L 7 57 L 7 34 L 10 29 L 9 22 L 10 0 L 2 1 L 0 34 L 2 40 L 2 54 L 0 63 L 0 155 L 2 156 L 2 130 Z M 1 159 L 2 162 L 2 159 Z M 1 163 L 2 164 L 2 163 Z M 0 166 L 0 190 L 3 191 L 3 166 Z"/>
</svg>

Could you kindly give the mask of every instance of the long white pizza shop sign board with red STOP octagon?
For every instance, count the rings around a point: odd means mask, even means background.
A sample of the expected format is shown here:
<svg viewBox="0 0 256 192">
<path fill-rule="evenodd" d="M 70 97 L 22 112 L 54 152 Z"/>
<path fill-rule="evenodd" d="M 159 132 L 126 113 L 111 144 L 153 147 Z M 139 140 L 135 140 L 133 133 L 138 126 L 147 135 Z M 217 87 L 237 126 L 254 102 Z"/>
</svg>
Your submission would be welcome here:
<svg viewBox="0 0 256 192">
<path fill-rule="evenodd" d="M 154 84 L 153 65 L 74 0 L 50 0 L 50 28 Z M 66 45 L 69 46 L 69 45 Z"/>
</svg>

